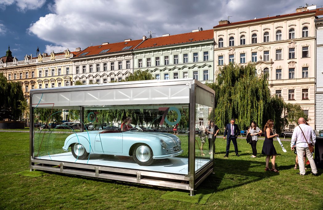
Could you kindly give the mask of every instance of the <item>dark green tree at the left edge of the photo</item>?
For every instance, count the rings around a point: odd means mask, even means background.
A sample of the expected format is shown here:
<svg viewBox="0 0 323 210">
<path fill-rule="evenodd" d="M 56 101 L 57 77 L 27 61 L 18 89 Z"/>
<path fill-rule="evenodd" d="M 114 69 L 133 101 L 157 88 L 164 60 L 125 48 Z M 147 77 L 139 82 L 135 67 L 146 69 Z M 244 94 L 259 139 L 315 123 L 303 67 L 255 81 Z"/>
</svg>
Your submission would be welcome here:
<svg viewBox="0 0 323 210">
<path fill-rule="evenodd" d="M 8 82 L 3 73 L 0 73 L 0 97 L 0 110 L 10 111 L 16 119 L 22 118 L 21 106 L 25 100 L 22 87 L 18 82 Z"/>
</svg>

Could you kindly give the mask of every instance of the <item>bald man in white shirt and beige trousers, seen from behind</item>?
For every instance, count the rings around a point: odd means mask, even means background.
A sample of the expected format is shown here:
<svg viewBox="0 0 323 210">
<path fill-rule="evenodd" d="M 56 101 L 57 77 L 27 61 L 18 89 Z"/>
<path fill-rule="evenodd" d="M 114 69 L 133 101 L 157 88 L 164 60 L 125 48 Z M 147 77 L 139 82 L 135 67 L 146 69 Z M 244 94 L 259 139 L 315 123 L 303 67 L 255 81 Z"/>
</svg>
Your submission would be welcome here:
<svg viewBox="0 0 323 210">
<path fill-rule="evenodd" d="M 297 151 L 297 159 L 298 159 L 298 165 L 299 165 L 299 175 L 306 175 L 305 173 L 305 165 L 303 162 L 303 155 L 304 152 L 306 153 L 307 159 L 309 160 L 309 163 L 311 164 L 311 169 L 313 175 L 317 176 L 318 175 L 318 170 L 316 169 L 316 165 L 313 160 L 313 154 L 309 152 L 308 149 L 308 143 L 312 143 L 313 145 L 315 144 L 316 136 L 315 133 L 312 129 L 311 126 L 305 124 L 304 118 L 299 118 L 298 119 L 298 124 L 292 135 L 292 140 L 290 143 L 291 150 L 294 150 L 295 148 L 293 147 L 295 142 L 296 142 L 296 151 Z M 302 132 L 303 131 L 303 132 Z M 303 135 L 304 133 L 304 135 Z M 306 142 L 306 140 L 307 142 Z"/>
</svg>

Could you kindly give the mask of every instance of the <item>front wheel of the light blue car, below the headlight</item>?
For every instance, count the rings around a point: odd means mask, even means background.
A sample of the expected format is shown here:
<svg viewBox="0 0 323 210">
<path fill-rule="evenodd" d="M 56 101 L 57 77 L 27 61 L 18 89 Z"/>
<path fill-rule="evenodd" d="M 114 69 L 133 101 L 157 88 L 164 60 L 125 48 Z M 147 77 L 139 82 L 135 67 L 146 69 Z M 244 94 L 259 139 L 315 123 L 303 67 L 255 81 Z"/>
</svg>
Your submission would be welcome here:
<svg viewBox="0 0 323 210">
<path fill-rule="evenodd" d="M 152 150 L 147 144 L 137 144 L 132 152 L 133 160 L 142 166 L 148 166 L 153 163 L 154 159 L 152 159 L 152 156 Z"/>
</svg>

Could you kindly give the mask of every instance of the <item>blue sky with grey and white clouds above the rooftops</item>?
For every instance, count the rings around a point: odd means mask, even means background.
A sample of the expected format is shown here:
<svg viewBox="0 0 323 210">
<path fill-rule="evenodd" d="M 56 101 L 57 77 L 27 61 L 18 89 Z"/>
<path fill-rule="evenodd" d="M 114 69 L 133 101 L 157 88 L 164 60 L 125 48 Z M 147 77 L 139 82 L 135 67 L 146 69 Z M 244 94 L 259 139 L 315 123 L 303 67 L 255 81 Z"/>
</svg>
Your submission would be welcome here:
<svg viewBox="0 0 323 210">
<path fill-rule="evenodd" d="M 294 13 L 323 0 L 0 0 L 0 57 L 86 48 L 103 42 L 180 34 L 231 22 Z M 323 6 L 320 6 L 323 7 Z"/>
</svg>

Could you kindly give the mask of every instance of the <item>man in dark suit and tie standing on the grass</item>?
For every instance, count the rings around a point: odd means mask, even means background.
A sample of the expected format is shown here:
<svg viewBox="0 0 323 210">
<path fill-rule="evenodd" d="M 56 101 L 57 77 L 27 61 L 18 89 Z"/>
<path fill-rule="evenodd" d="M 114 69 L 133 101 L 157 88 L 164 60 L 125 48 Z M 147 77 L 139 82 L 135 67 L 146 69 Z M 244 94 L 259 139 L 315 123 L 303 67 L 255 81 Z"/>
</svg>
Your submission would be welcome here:
<svg viewBox="0 0 323 210">
<path fill-rule="evenodd" d="M 235 119 L 231 119 L 231 123 L 226 124 L 225 130 L 224 130 L 223 139 L 225 139 L 225 135 L 226 135 L 226 153 L 225 153 L 224 157 L 229 156 L 231 141 L 234 145 L 235 155 L 238 157 L 240 156 L 238 153 L 238 145 L 237 145 L 237 137 L 240 133 L 240 130 L 239 130 L 238 125 L 234 124 L 234 122 L 235 122 Z"/>
</svg>

